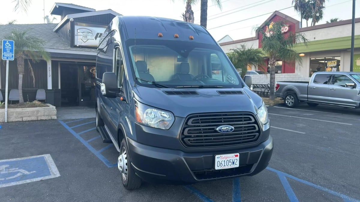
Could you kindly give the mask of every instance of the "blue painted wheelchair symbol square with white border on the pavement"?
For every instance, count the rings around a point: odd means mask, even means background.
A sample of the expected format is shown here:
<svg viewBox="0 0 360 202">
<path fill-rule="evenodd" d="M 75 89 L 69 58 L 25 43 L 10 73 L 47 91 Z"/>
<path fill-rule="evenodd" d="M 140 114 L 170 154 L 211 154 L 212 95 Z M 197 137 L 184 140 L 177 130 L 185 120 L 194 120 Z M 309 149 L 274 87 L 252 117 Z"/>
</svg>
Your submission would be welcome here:
<svg viewBox="0 0 360 202">
<path fill-rule="evenodd" d="M 0 188 L 60 176 L 50 154 L 0 160 Z"/>
</svg>

